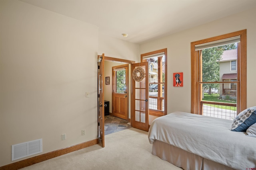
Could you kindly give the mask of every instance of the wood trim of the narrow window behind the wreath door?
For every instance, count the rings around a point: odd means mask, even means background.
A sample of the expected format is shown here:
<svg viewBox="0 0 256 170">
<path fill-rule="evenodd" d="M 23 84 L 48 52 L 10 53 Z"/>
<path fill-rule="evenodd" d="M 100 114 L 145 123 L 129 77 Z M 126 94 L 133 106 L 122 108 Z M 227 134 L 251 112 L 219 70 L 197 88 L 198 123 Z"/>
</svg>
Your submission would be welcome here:
<svg viewBox="0 0 256 170">
<path fill-rule="evenodd" d="M 158 53 L 164 53 L 164 55 L 165 55 L 165 60 L 164 60 L 164 111 L 160 111 L 160 110 L 153 111 L 153 109 L 149 109 L 149 115 L 154 115 L 154 116 L 160 117 L 163 115 L 167 115 L 167 48 L 152 51 L 149 53 L 144 53 L 144 54 L 140 55 L 140 61 L 145 62 L 146 60 L 144 60 L 143 57 L 158 54 Z M 158 66 L 158 69 L 159 69 L 159 67 L 160 66 Z M 162 80 L 162 76 L 158 76 L 158 82 L 160 82 L 161 80 Z M 158 94 L 158 97 L 160 98 L 159 94 Z"/>
</svg>

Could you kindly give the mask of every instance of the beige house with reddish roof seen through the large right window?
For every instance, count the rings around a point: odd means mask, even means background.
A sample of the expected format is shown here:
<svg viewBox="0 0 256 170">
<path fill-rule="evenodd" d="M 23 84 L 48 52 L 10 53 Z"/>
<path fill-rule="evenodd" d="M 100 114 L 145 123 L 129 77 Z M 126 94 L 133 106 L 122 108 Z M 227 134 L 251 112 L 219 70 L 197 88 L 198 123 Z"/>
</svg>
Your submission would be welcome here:
<svg viewBox="0 0 256 170">
<path fill-rule="evenodd" d="M 225 50 L 220 63 L 220 82 L 232 82 L 237 80 L 237 49 Z M 226 83 L 220 86 L 220 98 L 236 99 L 236 83 Z"/>
</svg>

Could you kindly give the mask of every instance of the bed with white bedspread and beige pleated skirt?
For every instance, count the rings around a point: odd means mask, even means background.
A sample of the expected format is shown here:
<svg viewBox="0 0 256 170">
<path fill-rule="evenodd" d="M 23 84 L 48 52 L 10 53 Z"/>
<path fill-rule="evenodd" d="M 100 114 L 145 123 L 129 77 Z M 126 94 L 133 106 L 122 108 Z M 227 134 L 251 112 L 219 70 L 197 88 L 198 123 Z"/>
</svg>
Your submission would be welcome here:
<svg viewBox="0 0 256 170">
<path fill-rule="evenodd" d="M 256 169 L 256 137 L 230 131 L 234 121 L 173 112 L 152 121 L 152 154 L 184 170 Z"/>
</svg>

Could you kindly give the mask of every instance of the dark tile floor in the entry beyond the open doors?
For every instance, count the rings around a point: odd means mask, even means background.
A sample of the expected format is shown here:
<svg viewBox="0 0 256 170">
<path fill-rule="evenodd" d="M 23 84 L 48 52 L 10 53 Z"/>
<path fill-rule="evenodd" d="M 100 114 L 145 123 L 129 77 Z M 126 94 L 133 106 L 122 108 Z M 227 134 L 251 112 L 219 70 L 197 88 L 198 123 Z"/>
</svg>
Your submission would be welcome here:
<svg viewBox="0 0 256 170">
<path fill-rule="evenodd" d="M 120 119 L 118 117 L 105 115 L 105 123 L 104 123 L 104 134 L 108 135 L 110 133 L 115 133 L 118 131 L 122 131 L 124 129 L 130 128 L 130 123 L 128 124 L 127 120 Z"/>
</svg>

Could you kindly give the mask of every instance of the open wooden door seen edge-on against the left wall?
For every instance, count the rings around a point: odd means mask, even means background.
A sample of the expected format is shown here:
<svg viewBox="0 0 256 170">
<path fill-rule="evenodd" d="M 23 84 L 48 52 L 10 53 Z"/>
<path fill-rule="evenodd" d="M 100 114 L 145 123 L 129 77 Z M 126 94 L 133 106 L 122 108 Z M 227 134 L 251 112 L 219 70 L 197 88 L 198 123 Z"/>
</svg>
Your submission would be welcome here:
<svg viewBox="0 0 256 170">
<path fill-rule="evenodd" d="M 102 147 L 104 142 L 104 54 L 98 56 L 98 139 Z"/>
</svg>

